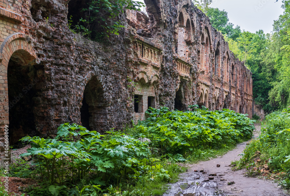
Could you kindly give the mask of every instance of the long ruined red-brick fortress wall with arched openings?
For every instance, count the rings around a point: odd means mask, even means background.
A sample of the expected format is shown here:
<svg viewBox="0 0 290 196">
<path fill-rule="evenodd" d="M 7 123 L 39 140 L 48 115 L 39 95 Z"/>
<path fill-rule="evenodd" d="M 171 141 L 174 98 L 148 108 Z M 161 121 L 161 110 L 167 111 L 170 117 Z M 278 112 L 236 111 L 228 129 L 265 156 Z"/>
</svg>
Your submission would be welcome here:
<svg viewBox="0 0 290 196">
<path fill-rule="evenodd" d="M 145 0 L 120 14 L 109 44 L 68 29 L 79 0 L 1 0 L 0 151 L 64 123 L 104 132 L 144 119 L 149 106 L 199 104 L 252 116 L 252 73 L 190 0 Z M 73 10 L 69 13 L 69 10 Z"/>
</svg>

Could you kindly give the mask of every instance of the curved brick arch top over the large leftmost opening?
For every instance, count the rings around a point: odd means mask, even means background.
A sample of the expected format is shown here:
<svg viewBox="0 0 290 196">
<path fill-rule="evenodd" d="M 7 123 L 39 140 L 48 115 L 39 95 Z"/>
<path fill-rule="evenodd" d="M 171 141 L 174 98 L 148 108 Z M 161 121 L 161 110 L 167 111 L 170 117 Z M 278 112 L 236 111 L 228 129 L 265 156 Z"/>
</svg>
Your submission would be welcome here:
<svg viewBox="0 0 290 196">
<path fill-rule="evenodd" d="M 2 66 L 8 66 L 8 62 L 12 55 L 21 57 L 23 64 L 28 64 L 36 58 L 35 52 L 28 41 L 27 35 L 23 33 L 14 33 L 9 35 L 2 43 L 0 47 L 0 61 Z"/>
</svg>

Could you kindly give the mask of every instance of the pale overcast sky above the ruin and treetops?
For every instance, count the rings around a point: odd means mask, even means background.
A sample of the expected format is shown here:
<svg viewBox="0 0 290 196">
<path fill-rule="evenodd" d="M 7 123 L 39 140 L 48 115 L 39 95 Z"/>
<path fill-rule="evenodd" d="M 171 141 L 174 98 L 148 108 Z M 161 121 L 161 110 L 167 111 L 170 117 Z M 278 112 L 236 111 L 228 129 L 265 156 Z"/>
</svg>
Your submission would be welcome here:
<svg viewBox="0 0 290 196">
<path fill-rule="evenodd" d="M 135 0 L 142 1 L 143 0 Z M 211 7 L 228 12 L 230 22 L 241 29 L 256 32 L 259 29 L 270 33 L 273 21 L 283 14 L 282 0 L 213 0 Z"/>
</svg>

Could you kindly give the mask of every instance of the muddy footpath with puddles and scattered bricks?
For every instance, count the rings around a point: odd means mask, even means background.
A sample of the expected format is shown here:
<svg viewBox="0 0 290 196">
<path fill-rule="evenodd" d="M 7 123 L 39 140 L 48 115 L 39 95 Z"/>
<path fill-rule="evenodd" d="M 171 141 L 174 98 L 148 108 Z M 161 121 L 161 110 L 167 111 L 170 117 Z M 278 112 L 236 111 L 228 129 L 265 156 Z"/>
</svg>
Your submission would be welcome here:
<svg viewBox="0 0 290 196">
<path fill-rule="evenodd" d="M 260 134 L 260 126 L 255 125 L 254 137 Z M 279 196 L 288 195 L 278 187 L 273 180 L 245 177 L 245 169 L 233 171 L 229 165 L 231 161 L 239 160 L 247 142 L 238 144 L 234 150 L 229 151 L 222 157 L 202 161 L 199 164 L 186 165 L 188 171 L 180 175 L 180 181 L 170 184 L 171 189 L 164 196 L 211 196 L 211 195 L 244 195 L 244 196 Z M 220 167 L 217 167 L 217 164 Z M 195 172 L 194 170 L 198 170 Z M 200 172 L 204 170 L 204 172 Z M 209 174 L 213 180 L 209 180 Z M 225 181 L 221 181 L 220 179 Z M 229 182 L 235 184 L 228 185 Z"/>
</svg>

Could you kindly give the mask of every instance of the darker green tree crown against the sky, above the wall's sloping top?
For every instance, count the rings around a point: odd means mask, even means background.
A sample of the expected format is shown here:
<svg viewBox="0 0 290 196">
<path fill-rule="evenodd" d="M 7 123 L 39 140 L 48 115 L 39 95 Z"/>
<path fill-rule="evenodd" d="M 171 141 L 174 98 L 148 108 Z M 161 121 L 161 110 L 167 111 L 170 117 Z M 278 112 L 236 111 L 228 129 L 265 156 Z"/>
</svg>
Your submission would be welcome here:
<svg viewBox="0 0 290 196">
<path fill-rule="evenodd" d="M 227 35 L 229 38 L 235 40 L 239 37 L 241 31 L 240 26 L 234 28 L 234 24 L 229 22 L 228 12 L 219 10 L 218 8 L 209 8 L 206 15 L 211 20 L 214 28 L 221 31 L 222 34 Z"/>
</svg>

